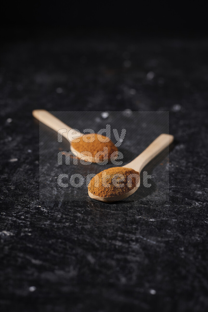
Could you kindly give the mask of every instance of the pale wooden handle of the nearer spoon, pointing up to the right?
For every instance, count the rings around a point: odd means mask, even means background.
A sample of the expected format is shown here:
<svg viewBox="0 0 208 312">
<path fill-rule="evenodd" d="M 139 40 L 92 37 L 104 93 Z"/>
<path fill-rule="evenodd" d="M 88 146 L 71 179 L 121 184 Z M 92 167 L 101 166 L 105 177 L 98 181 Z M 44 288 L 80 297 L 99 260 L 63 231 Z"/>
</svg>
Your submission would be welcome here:
<svg viewBox="0 0 208 312">
<path fill-rule="evenodd" d="M 170 134 L 161 134 L 155 139 L 138 157 L 123 167 L 132 168 L 139 173 L 142 169 L 163 149 L 167 148 L 174 140 L 174 136 Z"/>
</svg>

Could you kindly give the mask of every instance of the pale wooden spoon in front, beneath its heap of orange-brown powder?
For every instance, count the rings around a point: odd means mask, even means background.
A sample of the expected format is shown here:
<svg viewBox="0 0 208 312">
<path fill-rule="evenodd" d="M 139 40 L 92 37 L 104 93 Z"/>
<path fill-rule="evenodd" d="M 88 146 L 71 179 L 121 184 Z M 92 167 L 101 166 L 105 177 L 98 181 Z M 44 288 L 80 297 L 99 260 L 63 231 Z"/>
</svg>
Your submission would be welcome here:
<svg viewBox="0 0 208 312">
<path fill-rule="evenodd" d="M 158 154 L 162 152 L 163 149 L 167 148 L 174 140 L 173 135 L 161 134 L 155 139 L 139 156 L 137 156 L 130 163 L 127 163 L 123 168 L 131 168 L 141 174 L 142 169 Z M 104 170 L 105 171 L 105 170 Z M 111 196 L 111 197 L 99 197 L 90 193 L 88 189 L 89 197 L 99 200 L 101 202 L 116 202 L 127 198 L 128 196 L 135 193 L 140 186 L 134 187 L 129 192 L 125 192 L 121 195 Z"/>
</svg>

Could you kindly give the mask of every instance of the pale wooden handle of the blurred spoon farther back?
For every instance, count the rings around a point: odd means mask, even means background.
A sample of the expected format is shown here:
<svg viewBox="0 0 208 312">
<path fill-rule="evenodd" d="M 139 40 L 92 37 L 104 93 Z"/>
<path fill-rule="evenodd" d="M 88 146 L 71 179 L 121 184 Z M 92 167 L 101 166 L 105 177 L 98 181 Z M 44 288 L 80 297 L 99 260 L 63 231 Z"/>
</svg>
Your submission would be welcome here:
<svg viewBox="0 0 208 312">
<path fill-rule="evenodd" d="M 66 129 L 67 131 L 64 132 L 62 135 L 67 139 L 68 131 L 71 130 L 72 128 L 64 124 L 54 115 L 50 114 L 47 110 L 33 110 L 32 115 L 33 117 L 41 121 L 43 124 L 46 124 L 46 126 L 55 130 L 56 132 L 60 129 Z"/>
</svg>

